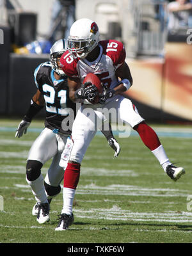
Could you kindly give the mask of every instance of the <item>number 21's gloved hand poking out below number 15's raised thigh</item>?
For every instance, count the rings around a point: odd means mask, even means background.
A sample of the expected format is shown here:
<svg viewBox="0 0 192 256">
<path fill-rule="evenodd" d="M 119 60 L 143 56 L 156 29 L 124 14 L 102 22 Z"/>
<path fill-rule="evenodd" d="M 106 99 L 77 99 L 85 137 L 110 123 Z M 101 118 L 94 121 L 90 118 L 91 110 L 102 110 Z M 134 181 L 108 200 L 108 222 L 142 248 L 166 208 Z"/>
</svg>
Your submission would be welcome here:
<svg viewBox="0 0 192 256">
<path fill-rule="evenodd" d="M 111 130 L 111 125 L 108 125 L 108 129 L 103 129 L 100 130 L 102 132 L 102 134 L 104 134 L 104 136 L 106 137 L 106 139 L 108 140 L 109 146 L 111 148 L 113 148 L 113 150 L 115 150 L 115 154 L 114 157 L 117 157 L 118 154 L 120 153 L 120 145 L 118 144 L 118 142 L 116 141 L 116 139 L 113 136 L 113 132 Z"/>
</svg>

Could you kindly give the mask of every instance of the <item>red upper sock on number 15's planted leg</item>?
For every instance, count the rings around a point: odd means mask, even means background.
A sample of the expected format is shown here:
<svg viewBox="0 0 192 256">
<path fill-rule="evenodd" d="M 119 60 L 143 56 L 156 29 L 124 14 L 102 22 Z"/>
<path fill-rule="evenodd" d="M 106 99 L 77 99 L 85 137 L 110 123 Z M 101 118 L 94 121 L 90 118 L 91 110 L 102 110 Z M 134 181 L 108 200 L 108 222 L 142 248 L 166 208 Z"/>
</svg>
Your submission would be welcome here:
<svg viewBox="0 0 192 256">
<path fill-rule="evenodd" d="M 64 188 L 76 189 L 80 177 L 79 163 L 68 163 L 64 173 Z"/>
</svg>

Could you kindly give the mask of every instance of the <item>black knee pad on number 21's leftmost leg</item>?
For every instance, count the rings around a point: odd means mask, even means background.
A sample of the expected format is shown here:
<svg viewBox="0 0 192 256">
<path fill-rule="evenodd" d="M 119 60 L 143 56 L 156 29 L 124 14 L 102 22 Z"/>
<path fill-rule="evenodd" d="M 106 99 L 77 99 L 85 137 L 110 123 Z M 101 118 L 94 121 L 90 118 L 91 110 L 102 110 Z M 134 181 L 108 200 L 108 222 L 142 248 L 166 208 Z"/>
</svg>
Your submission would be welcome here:
<svg viewBox="0 0 192 256">
<path fill-rule="evenodd" d="M 26 165 L 26 177 L 29 181 L 36 180 L 41 174 L 43 164 L 36 160 L 28 160 Z"/>
</svg>

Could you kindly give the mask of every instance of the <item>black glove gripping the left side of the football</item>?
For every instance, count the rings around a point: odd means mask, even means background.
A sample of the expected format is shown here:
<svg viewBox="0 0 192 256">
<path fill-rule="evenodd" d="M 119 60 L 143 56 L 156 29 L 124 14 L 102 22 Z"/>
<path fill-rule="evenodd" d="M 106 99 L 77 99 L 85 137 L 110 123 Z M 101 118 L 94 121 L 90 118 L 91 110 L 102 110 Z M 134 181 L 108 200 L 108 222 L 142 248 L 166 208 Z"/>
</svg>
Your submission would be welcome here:
<svg viewBox="0 0 192 256">
<path fill-rule="evenodd" d="M 97 87 L 90 83 L 86 82 L 83 86 L 76 90 L 75 97 L 76 99 L 87 99 L 92 101 L 98 95 Z"/>
</svg>

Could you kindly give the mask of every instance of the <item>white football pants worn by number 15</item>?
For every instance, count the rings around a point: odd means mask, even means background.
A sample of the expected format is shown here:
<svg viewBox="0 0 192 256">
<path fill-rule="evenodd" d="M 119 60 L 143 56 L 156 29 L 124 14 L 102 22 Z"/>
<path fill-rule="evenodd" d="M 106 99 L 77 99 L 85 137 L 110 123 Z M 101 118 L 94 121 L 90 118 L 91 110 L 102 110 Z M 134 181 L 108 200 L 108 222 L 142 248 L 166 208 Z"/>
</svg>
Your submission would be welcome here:
<svg viewBox="0 0 192 256">
<path fill-rule="evenodd" d="M 108 113 L 112 115 L 108 115 Z M 144 119 L 138 113 L 131 100 L 121 95 L 116 95 L 104 105 L 83 105 L 77 111 L 76 119 L 72 126 L 72 140 L 74 145 L 70 154 L 70 161 L 81 163 L 84 154 L 95 133 L 101 129 L 102 124 L 111 122 L 126 123 L 134 127 Z"/>
</svg>

